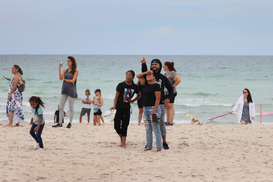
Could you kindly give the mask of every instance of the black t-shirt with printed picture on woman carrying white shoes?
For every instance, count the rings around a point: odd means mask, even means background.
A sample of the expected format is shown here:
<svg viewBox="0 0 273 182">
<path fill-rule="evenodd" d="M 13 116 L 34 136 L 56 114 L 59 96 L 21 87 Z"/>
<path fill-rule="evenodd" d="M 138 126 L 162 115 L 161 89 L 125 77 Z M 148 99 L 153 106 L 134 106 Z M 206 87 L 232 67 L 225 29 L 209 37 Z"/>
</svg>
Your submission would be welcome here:
<svg viewBox="0 0 273 182">
<path fill-rule="evenodd" d="M 139 88 L 135 83 L 127 85 L 125 82 L 118 83 L 116 91 L 120 92 L 118 95 L 116 109 L 130 109 L 130 103 L 128 99 L 133 99 L 133 95 L 139 93 Z"/>
</svg>

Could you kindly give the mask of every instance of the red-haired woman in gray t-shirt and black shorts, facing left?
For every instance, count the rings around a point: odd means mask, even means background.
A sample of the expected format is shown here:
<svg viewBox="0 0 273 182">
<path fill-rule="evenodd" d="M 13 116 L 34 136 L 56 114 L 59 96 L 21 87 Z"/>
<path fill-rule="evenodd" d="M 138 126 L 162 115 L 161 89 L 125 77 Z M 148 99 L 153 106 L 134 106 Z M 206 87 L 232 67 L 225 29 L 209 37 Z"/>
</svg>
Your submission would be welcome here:
<svg viewBox="0 0 273 182">
<path fill-rule="evenodd" d="M 173 97 L 170 100 L 169 104 L 166 106 L 166 114 L 167 114 L 167 122 L 166 126 L 173 126 L 173 118 L 174 118 L 174 99 L 177 95 L 176 86 L 181 82 L 180 77 L 176 74 L 176 69 L 174 68 L 173 62 L 165 62 L 162 66 L 166 73 L 164 76 L 168 78 L 171 85 L 173 86 Z M 168 91 L 166 92 L 165 99 L 168 98 Z"/>
</svg>

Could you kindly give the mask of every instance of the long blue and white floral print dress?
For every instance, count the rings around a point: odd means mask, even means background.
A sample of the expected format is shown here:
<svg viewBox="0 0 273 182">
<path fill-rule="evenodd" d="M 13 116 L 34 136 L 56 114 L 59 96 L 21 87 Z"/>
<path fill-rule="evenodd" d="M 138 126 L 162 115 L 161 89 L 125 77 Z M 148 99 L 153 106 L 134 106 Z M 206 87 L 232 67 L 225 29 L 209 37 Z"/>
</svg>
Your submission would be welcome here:
<svg viewBox="0 0 273 182">
<path fill-rule="evenodd" d="M 10 81 L 10 87 L 8 89 L 8 96 L 13 87 L 13 82 L 14 80 L 12 79 Z M 20 83 L 17 83 L 17 86 L 20 86 Z M 7 101 L 7 117 L 10 112 L 13 113 L 12 123 L 22 123 L 24 121 L 25 114 L 23 112 L 22 105 L 23 105 L 23 96 L 22 96 L 22 93 L 19 92 L 18 87 L 16 87 L 14 92 L 11 94 L 11 100 Z"/>
</svg>

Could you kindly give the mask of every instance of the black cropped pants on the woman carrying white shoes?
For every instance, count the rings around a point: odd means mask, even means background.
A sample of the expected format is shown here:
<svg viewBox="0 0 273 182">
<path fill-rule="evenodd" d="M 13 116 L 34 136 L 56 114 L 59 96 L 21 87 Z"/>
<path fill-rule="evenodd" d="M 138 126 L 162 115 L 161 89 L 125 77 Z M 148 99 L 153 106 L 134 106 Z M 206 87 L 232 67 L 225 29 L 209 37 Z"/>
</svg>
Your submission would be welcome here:
<svg viewBox="0 0 273 182">
<path fill-rule="evenodd" d="M 114 119 L 114 129 L 117 134 L 121 133 L 121 136 L 127 136 L 127 128 L 130 122 L 130 109 L 117 110 Z"/>
</svg>

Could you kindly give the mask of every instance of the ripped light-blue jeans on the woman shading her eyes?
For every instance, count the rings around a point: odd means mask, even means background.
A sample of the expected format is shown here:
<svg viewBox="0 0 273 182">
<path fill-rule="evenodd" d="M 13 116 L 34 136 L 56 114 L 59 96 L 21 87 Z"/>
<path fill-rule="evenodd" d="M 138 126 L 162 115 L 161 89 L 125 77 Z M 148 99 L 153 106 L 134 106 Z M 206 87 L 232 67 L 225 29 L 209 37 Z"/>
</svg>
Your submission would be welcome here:
<svg viewBox="0 0 273 182">
<path fill-rule="evenodd" d="M 144 106 L 143 107 L 143 118 L 144 121 L 147 121 L 150 119 L 150 115 L 153 112 L 154 106 Z M 161 115 L 161 109 L 158 106 L 156 109 L 156 112 L 158 114 L 157 118 L 160 118 Z M 159 120 L 158 120 L 159 121 Z M 161 138 L 161 132 L 160 132 L 160 125 L 158 124 L 152 124 L 150 121 L 148 121 L 149 128 L 146 129 L 146 141 L 147 141 L 147 149 L 153 148 L 153 132 L 155 133 L 155 140 L 156 140 L 156 149 L 161 150 L 162 148 L 162 138 Z"/>
</svg>

